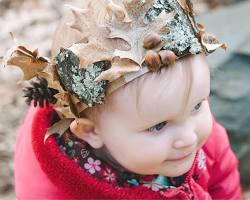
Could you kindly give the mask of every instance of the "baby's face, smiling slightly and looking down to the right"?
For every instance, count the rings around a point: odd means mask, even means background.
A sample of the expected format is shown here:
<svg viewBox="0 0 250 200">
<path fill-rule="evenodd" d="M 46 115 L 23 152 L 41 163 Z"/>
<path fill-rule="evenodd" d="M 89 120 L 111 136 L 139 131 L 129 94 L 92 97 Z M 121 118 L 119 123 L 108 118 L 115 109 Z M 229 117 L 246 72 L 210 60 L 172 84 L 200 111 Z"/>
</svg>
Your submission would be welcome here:
<svg viewBox="0 0 250 200">
<path fill-rule="evenodd" d="M 183 175 L 208 138 L 209 69 L 203 55 L 185 59 L 171 70 L 163 69 L 158 79 L 139 80 L 140 90 L 130 88 L 130 96 L 118 90 L 112 108 L 103 112 L 100 137 L 126 169 L 144 175 Z"/>
</svg>

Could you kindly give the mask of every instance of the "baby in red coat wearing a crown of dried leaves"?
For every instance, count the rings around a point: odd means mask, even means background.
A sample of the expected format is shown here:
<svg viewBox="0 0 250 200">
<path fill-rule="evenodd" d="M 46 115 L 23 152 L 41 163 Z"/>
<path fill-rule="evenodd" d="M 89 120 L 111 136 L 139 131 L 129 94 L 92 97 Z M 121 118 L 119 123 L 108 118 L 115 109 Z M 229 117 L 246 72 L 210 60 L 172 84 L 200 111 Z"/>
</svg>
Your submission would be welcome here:
<svg viewBox="0 0 250 200">
<path fill-rule="evenodd" d="M 16 139 L 17 199 L 241 199 L 208 102 L 205 55 L 225 45 L 191 2 L 84 4 L 69 6 L 51 60 L 24 46 L 6 59 L 38 77 Z"/>
</svg>

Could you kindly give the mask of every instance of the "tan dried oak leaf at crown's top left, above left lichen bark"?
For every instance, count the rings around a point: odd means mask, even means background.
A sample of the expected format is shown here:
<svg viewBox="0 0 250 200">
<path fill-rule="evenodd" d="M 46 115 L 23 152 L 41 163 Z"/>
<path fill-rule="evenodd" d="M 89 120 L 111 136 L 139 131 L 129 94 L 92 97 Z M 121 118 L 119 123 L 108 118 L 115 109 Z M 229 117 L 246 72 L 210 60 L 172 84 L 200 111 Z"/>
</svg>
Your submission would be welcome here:
<svg viewBox="0 0 250 200">
<path fill-rule="evenodd" d="M 81 32 L 83 43 L 73 44 L 69 50 L 80 59 L 80 68 L 87 68 L 91 63 L 113 58 L 111 41 L 107 38 L 109 29 L 100 24 L 95 15 L 93 5 L 89 3 L 87 9 L 70 7 L 74 15 L 74 22 L 70 27 Z"/>
</svg>

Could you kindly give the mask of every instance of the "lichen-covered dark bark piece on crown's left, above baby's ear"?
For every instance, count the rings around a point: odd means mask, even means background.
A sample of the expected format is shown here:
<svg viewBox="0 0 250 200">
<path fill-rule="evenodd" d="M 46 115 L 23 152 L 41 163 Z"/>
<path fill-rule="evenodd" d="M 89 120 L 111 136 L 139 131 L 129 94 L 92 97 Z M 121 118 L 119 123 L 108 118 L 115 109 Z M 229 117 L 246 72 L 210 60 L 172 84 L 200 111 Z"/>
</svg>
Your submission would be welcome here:
<svg viewBox="0 0 250 200">
<path fill-rule="evenodd" d="M 75 94 L 90 107 L 104 102 L 108 81 L 94 80 L 110 67 L 110 62 L 101 61 L 88 65 L 86 69 L 80 69 L 79 58 L 72 51 L 63 48 L 56 61 L 58 75 L 67 91 Z"/>
</svg>

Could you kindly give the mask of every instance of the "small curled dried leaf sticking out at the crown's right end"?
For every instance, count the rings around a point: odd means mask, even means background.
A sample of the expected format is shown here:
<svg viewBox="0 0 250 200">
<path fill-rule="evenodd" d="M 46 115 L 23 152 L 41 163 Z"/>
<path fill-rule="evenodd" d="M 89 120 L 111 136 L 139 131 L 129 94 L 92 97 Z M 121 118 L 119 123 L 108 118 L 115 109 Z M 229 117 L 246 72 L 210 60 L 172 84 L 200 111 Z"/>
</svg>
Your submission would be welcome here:
<svg viewBox="0 0 250 200">
<path fill-rule="evenodd" d="M 222 48 L 224 50 L 227 49 L 226 44 L 220 43 L 219 40 L 211 34 L 202 34 L 201 36 L 201 44 L 206 48 L 208 53 L 215 51 L 218 48 Z"/>
</svg>

